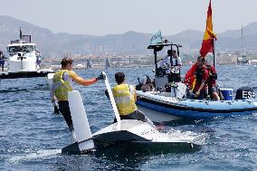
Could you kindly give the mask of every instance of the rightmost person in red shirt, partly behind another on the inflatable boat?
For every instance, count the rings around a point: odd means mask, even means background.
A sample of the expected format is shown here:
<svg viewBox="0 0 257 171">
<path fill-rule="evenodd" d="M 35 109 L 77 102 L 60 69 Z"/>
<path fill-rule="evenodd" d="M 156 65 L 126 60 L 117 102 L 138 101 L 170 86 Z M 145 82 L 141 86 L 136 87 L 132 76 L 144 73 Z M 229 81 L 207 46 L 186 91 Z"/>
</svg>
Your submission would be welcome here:
<svg viewBox="0 0 257 171">
<path fill-rule="evenodd" d="M 208 94 L 213 100 L 220 100 L 216 88 L 217 71 L 215 70 L 214 66 L 210 64 L 206 64 L 206 67 L 209 74 L 209 78 L 207 80 Z"/>
</svg>

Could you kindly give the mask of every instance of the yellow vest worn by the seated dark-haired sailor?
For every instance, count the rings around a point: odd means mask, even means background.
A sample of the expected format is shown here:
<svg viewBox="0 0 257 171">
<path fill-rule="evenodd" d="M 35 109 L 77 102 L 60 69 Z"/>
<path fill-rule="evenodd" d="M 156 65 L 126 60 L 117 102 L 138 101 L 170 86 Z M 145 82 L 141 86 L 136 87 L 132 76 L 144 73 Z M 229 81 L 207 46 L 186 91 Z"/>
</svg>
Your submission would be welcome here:
<svg viewBox="0 0 257 171">
<path fill-rule="evenodd" d="M 119 115 L 128 115 L 137 109 L 134 99 L 135 88 L 128 84 L 120 84 L 113 88 L 113 96 L 116 101 Z"/>
</svg>

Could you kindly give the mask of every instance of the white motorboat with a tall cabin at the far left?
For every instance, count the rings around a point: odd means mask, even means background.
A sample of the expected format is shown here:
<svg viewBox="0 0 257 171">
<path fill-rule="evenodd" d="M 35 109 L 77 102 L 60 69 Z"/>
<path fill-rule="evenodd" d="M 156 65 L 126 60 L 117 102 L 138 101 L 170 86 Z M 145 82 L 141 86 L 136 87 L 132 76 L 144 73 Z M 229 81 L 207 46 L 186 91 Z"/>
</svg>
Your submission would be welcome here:
<svg viewBox="0 0 257 171">
<path fill-rule="evenodd" d="M 36 49 L 36 44 L 31 42 L 31 35 L 23 35 L 22 31 L 19 40 L 7 45 L 7 52 L 8 68 L 7 71 L 0 72 L 0 79 L 45 77 L 53 72 L 51 69 L 40 69 L 37 63 L 40 52 Z"/>
</svg>

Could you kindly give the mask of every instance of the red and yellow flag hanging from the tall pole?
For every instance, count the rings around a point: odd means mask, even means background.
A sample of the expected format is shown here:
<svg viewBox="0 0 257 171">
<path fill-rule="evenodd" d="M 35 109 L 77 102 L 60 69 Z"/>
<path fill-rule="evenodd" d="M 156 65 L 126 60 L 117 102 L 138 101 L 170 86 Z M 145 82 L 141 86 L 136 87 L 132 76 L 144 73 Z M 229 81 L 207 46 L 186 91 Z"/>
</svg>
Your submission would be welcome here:
<svg viewBox="0 0 257 171">
<path fill-rule="evenodd" d="M 213 31 L 212 5 L 210 0 L 207 11 L 205 35 L 202 43 L 202 48 L 200 50 L 200 54 L 202 57 L 205 57 L 208 52 L 214 52 L 214 40 L 216 39 L 216 34 Z"/>
</svg>

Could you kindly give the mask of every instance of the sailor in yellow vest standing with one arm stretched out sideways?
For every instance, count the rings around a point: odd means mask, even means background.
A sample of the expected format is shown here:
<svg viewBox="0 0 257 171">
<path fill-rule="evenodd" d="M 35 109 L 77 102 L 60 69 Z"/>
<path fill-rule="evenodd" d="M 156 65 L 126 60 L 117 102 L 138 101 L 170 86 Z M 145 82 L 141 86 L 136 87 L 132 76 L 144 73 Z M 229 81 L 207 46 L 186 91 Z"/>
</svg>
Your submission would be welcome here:
<svg viewBox="0 0 257 171">
<path fill-rule="evenodd" d="M 70 131 L 74 130 L 71 120 L 71 111 L 68 101 L 68 91 L 72 90 L 73 81 L 83 86 L 88 86 L 99 80 L 104 80 L 105 76 L 100 74 L 97 78 L 92 78 L 90 80 L 84 80 L 78 76 L 74 71 L 72 71 L 72 59 L 63 58 L 61 65 L 62 69 L 57 71 L 53 75 L 52 79 L 52 89 L 51 89 L 51 99 L 52 103 L 56 103 L 55 100 L 58 100 L 58 106 L 62 113 L 63 118 L 65 119 Z"/>
</svg>

